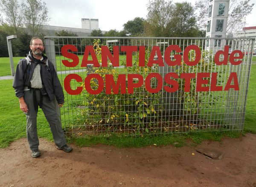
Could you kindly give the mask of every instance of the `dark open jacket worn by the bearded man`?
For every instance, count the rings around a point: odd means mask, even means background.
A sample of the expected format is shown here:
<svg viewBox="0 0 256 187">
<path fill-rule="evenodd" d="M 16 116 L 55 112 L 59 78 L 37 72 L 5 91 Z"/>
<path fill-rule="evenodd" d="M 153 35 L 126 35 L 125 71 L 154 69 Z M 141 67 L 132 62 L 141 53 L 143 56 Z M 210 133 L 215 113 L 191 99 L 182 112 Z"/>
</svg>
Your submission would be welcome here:
<svg viewBox="0 0 256 187">
<path fill-rule="evenodd" d="M 61 83 L 58 79 L 57 72 L 54 69 L 53 64 L 48 60 L 48 66 L 46 66 L 47 57 L 43 55 L 43 60 L 37 60 L 32 56 L 32 52 L 28 55 L 31 60 L 31 64 L 27 63 L 27 60 L 21 59 L 17 65 L 14 81 L 12 87 L 15 89 L 15 94 L 18 98 L 24 96 L 24 87 L 30 87 L 30 80 L 32 78 L 35 66 L 39 63 L 41 65 L 41 79 L 44 87 L 47 91 L 49 99 L 52 101 L 54 97 L 58 104 L 64 103 L 64 93 L 61 87 Z"/>
</svg>

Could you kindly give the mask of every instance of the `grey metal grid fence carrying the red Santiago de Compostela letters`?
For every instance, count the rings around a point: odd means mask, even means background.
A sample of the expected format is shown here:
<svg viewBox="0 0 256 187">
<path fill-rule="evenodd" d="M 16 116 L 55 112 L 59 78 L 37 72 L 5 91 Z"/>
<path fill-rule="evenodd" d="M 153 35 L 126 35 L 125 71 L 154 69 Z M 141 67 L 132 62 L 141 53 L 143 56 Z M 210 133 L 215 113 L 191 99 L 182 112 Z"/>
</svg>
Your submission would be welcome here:
<svg viewBox="0 0 256 187">
<path fill-rule="evenodd" d="M 76 52 L 68 52 L 78 56 L 77 66 L 67 67 L 62 63 L 62 60 L 72 63 L 71 59 L 61 53 L 62 47 L 67 44 L 76 46 Z M 45 37 L 47 56 L 55 64 L 62 86 L 64 87 L 64 80 L 69 74 L 81 77 L 82 81 L 72 79 L 68 85 L 72 90 L 79 86 L 83 90 L 78 95 L 70 95 L 64 90 L 65 104 L 61 109 L 65 132 L 79 135 L 101 132 L 143 135 L 242 130 L 253 44 L 252 38 Z M 181 51 L 168 50 L 171 45 L 179 47 Z M 191 45 L 197 46 L 200 54 L 195 50 L 186 51 Z M 229 52 L 226 51 L 226 55 L 220 55 L 218 59 L 225 61 L 227 58 L 227 65 L 217 65 L 216 52 L 224 50 L 225 45 L 229 46 Z M 85 54 L 89 46 L 93 46 L 94 52 Z M 95 53 L 101 63 L 102 46 L 108 46 L 109 49 L 108 67 L 96 67 L 88 64 L 89 62 L 86 66 L 81 65 L 84 60 L 93 60 L 92 53 Z M 122 50 L 122 46 L 137 48 L 129 53 Z M 140 50 L 140 46 L 144 47 Z M 167 50 L 168 54 L 165 56 Z M 235 54 L 235 58 L 239 56 L 239 53 L 232 53 L 235 50 L 243 54 L 239 65 L 230 63 L 230 55 Z M 110 55 L 117 55 L 115 51 L 118 51 L 119 56 L 118 67 L 110 63 Z M 132 58 L 132 66 L 127 66 L 128 53 Z M 169 63 L 180 56 L 181 64 L 168 66 L 167 56 L 171 60 Z M 184 62 L 193 62 L 197 56 L 200 60 L 194 66 Z M 160 65 L 162 59 L 163 66 Z M 142 62 L 145 66 L 141 66 Z M 147 66 L 150 62 L 154 63 L 153 66 Z M 204 74 L 202 78 L 201 73 L 208 74 Z M 236 76 L 232 77 L 234 73 Z M 89 79 L 90 74 L 100 75 L 101 79 Z M 135 78 L 131 78 L 131 74 L 136 75 Z M 106 78 L 106 75 L 111 75 L 115 82 L 119 77 L 125 77 L 119 86 L 121 90 L 125 87 L 123 92 L 125 90 L 126 93 L 121 94 L 119 90 L 113 94 L 113 89 L 109 90 L 109 81 L 112 79 Z M 184 78 L 186 76 L 192 77 Z M 92 90 L 97 90 L 102 81 L 102 92 L 96 95 L 88 93 L 86 84 Z M 142 85 L 139 86 L 141 82 Z M 128 93 L 132 90 L 128 85 L 134 86 L 133 93 Z M 228 90 L 224 90 L 226 85 L 229 85 Z M 204 91 L 198 91 L 199 87 Z M 149 92 L 149 88 L 158 92 Z M 218 91 L 213 91 L 214 88 Z"/>
</svg>

